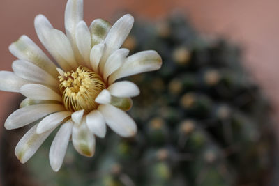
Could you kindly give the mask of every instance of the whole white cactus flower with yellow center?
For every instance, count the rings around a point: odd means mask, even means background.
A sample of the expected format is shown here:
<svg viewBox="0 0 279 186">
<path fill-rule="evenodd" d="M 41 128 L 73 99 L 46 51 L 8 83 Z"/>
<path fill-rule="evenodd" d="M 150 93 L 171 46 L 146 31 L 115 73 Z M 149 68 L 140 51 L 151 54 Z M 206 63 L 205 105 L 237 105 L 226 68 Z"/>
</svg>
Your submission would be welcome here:
<svg viewBox="0 0 279 186">
<path fill-rule="evenodd" d="M 158 70 L 162 60 L 155 51 L 128 56 L 128 49 L 120 49 L 133 26 L 131 15 L 124 15 L 113 26 L 97 19 L 88 27 L 82 19 L 82 0 L 68 0 L 66 35 L 54 29 L 45 16 L 36 16 L 38 38 L 56 63 L 27 36 L 9 47 L 18 60 L 13 62 L 13 72 L 0 72 L 0 89 L 27 98 L 7 118 L 5 127 L 11 130 L 33 125 L 15 148 L 22 163 L 59 125 L 50 147 L 54 171 L 61 168 L 70 137 L 77 152 L 91 157 L 95 135 L 105 137 L 105 123 L 121 137 L 137 132 L 125 111 L 132 106 L 130 97 L 139 95 L 140 90 L 132 82 L 114 82 Z"/>
</svg>

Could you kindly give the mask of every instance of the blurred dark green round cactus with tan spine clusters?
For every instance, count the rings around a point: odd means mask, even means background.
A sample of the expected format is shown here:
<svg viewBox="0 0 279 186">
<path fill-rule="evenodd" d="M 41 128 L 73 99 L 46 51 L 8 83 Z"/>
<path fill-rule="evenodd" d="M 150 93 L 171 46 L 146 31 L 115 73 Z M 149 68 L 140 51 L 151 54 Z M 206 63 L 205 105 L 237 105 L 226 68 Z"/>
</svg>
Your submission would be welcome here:
<svg viewBox="0 0 279 186">
<path fill-rule="evenodd" d="M 130 79 L 142 91 L 130 110 L 138 134 L 123 139 L 109 131 L 105 139 L 97 139 L 93 158 L 82 157 L 69 146 L 58 173 L 52 172 L 45 156 L 50 137 L 24 165 L 30 182 L 269 185 L 270 107 L 243 68 L 239 47 L 222 39 L 205 40 L 177 15 L 155 25 L 135 25 L 124 45 L 132 53 L 155 49 L 164 61 L 158 72 Z"/>
</svg>

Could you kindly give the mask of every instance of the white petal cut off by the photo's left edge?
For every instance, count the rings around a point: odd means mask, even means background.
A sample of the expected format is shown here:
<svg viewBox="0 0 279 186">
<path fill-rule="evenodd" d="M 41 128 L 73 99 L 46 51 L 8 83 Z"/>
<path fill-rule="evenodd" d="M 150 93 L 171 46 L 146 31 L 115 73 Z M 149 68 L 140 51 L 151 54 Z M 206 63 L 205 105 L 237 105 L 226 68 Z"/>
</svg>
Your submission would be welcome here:
<svg viewBox="0 0 279 186">
<path fill-rule="evenodd" d="M 8 92 L 20 92 L 20 87 L 28 84 L 29 81 L 18 77 L 13 72 L 0 71 L 0 90 Z"/>
</svg>

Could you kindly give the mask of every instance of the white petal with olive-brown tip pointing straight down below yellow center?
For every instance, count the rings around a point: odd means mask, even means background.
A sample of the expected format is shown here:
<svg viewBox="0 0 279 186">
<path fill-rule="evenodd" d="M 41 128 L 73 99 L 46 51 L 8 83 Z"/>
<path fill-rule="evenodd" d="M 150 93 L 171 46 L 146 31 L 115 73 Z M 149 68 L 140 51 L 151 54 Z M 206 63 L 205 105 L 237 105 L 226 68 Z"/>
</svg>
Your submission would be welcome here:
<svg viewBox="0 0 279 186">
<path fill-rule="evenodd" d="M 85 118 L 82 119 L 82 124 L 75 123 L 72 132 L 73 145 L 75 150 L 81 155 L 92 157 L 95 152 L 95 137 L 88 129 Z"/>
</svg>

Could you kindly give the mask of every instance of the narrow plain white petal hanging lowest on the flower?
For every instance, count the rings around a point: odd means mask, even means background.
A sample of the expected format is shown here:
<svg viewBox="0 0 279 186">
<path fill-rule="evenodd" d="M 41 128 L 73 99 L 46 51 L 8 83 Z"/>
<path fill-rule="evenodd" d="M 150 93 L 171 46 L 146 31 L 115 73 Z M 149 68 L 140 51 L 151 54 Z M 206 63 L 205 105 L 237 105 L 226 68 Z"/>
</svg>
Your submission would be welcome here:
<svg viewBox="0 0 279 186">
<path fill-rule="evenodd" d="M 50 146 L 50 166 L 56 172 L 59 171 L 63 164 L 70 135 L 72 134 L 73 124 L 71 120 L 63 123 L 52 141 L 52 146 Z"/>
</svg>

